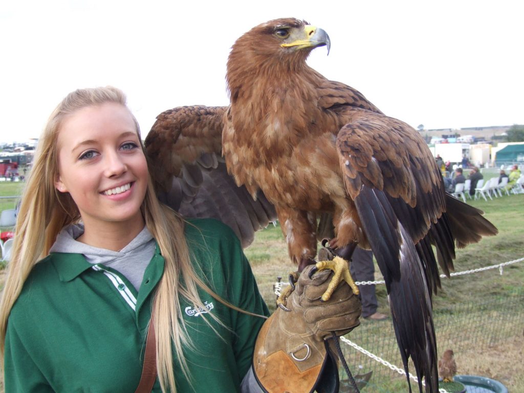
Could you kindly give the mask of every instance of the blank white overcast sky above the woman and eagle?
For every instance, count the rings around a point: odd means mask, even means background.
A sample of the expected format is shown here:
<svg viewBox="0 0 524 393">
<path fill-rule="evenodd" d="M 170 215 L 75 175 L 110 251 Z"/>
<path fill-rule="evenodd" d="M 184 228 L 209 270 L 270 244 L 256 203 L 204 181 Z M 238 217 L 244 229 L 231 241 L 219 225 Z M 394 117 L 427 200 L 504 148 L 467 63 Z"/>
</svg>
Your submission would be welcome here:
<svg viewBox="0 0 524 393">
<path fill-rule="evenodd" d="M 308 62 L 413 127 L 524 124 L 518 1 L 3 0 L 0 141 L 38 137 L 77 88 L 124 90 L 143 137 L 180 105 L 227 105 L 236 38 L 293 16 L 323 28 L 331 52 Z"/>
</svg>

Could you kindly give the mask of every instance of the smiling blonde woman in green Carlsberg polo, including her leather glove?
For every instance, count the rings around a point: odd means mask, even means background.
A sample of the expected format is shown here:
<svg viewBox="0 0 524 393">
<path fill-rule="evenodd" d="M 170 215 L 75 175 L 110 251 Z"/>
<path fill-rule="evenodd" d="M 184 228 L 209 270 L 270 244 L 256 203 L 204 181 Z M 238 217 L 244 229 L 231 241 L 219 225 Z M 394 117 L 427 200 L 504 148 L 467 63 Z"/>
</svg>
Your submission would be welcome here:
<svg viewBox="0 0 524 393">
<path fill-rule="evenodd" d="M 232 231 L 213 220 L 184 221 L 157 200 L 124 94 L 74 91 L 50 116 L 21 199 L 0 304 L 5 389 L 135 391 L 154 320 L 158 378 L 147 391 L 257 391 L 259 384 L 271 391 L 275 377 L 260 365 L 280 367 L 266 355 L 285 348 L 290 333 L 309 332 L 311 342 L 285 357 L 322 366 L 330 358 L 324 340 L 358 324 L 347 285 L 329 304 L 303 300 L 308 288 L 325 290 L 325 273 L 304 272 L 291 311 L 266 320 Z M 305 310 L 313 318 L 306 321 Z M 323 368 L 314 384 L 333 376 Z M 303 380 L 302 372 L 294 378 Z"/>
</svg>

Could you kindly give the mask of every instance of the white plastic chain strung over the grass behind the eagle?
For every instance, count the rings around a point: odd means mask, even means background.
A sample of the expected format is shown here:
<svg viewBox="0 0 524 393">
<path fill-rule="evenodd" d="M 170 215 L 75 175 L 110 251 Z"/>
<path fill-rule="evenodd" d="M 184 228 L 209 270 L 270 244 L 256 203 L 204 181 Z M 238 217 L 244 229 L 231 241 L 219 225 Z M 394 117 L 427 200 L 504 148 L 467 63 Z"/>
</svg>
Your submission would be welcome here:
<svg viewBox="0 0 524 393">
<path fill-rule="evenodd" d="M 466 274 L 472 274 L 472 273 L 477 273 L 479 271 L 485 271 L 485 270 L 490 270 L 490 269 L 496 269 L 498 268 L 499 269 L 499 272 L 500 272 L 500 275 L 503 275 L 503 267 L 504 266 L 508 266 L 508 265 L 512 265 L 512 264 L 516 264 L 517 262 L 521 262 L 521 261 L 524 261 L 524 258 L 519 258 L 519 259 L 514 259 L 514 260 L 510 260 L 508 262 L 503 262 L 503 263 L 500 263 L 500 264 L 496 264 L 496 265 L 491 265 L 491 266 L 485 266 L 485 267 L 480 267 L 480 268 L 477 268 L 477 269 L 471 269 L 471 270 L 464 270 L 464 271 L 457 271 L 457 272 L 453 272 L 450 274 L 450 276 L 463 276 L 463 275 L 466 275 Z M 440 275 L 441 278 L 446 278 L 447 276 L 446 275 L 443 275 L 441 274 Z M 378 281 L 355 281 L 356 285 L 376 285 L 376 284 L 384 284 L 386 283 L 386 281 L 384 280 L 378 280 Z M 283 286 L 286 286 L 286 285 L 289 285 L 289 283 L 285 283 L 285 282 L 281 282 L 280 279 L 278 282 L 276 282 L 274 285 L 273 285 L 273 289 L 275 290 L 275 294 L 277 296 L 280 296 L 280 291 L 282 290 L 282 287 Z M 394 364 L 391 364 L 389 363 L 388 361 L 385 361 L 384 359 L 378 357 L 377 355 L 375 354 L 372 354 L 371 352 L 365 350 L 363 347 L 355 344 L 354 342 L 346 339 L 346 337 L 340 337 L 340 339 L 352 346 L 353 348 L 355 348 L 357 351 L 359 352 L 362 352 L 364 355 L 372 358 L 373 360 L 379 362 L 380 364 L 386 366 L 386 367 L 389 367 L 391 370 L 394 370 L 396 371 L 397 373 L 399 374 L 402 374 L 402 375 L 406 375 L 406 372 L 405 370 L 395 366 Z M 417 384 L 418 384 L 418 378 L 414 375 L 412 375 L 411 373 L 408 373 L 409 374 L 409 378 L 413 381 L 416 381 Z M 422 385 L 425 386 L 425 383 L 424 381 L 422 381 Z M 440 388 L 439 389 L 439 392 L 440 393 L 448 393 L 445 389 L 443 388 Z"/>
</svg>

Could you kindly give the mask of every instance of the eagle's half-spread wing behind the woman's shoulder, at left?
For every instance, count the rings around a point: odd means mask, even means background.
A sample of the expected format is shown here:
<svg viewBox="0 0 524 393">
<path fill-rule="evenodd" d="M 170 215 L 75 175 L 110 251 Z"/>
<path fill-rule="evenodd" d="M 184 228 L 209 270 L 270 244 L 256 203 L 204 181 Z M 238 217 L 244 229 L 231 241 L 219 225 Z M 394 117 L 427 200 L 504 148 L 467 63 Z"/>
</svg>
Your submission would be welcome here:
<svg viewBox="0 0 524 393">
<path fill-rule="evenodd" d="M 161 113 L 145 140 L 159 198 L 185 217 L 211 217 L 230 226 L 244 247 L 255 231 L 276 220 L 259 191 L 238 187 L 222 159 L 227 107 L 183 106 Z"/>
</svg>

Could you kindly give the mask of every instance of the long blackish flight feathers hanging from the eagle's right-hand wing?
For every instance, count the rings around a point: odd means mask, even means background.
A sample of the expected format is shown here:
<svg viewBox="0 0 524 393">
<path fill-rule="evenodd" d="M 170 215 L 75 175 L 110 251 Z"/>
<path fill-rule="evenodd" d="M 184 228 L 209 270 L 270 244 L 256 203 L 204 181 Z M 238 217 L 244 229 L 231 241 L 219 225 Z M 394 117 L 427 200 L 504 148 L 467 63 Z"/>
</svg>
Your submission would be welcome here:
<svg viewBox="0 0 524 393">
<path fill-rule="evenodd" d="M 386 281 L 391 317 L 406 373 L 411 357 L 419 389 L 425 377 L 427 389 L 436 391 L 436 339 L 427 271 L 384 191 L 364 186 L 354 202 Z"/>
</svg>

